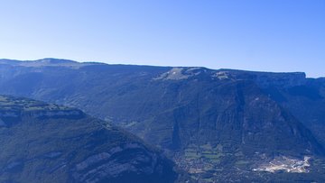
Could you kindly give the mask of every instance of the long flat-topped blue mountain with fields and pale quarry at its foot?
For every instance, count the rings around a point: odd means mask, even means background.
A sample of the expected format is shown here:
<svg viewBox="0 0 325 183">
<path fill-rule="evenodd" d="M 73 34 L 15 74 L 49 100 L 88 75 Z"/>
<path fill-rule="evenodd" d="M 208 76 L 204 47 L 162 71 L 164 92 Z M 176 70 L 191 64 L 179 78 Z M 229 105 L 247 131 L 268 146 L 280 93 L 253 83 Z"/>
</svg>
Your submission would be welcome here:
<svg viewBox="0 0 325 183">
<path fill-rule="evenodd" d="M 304 73 L 0 60 L 0 93 L 122 126 L 200 181 L 324 178 L 324 86 Z"/>
</svg>

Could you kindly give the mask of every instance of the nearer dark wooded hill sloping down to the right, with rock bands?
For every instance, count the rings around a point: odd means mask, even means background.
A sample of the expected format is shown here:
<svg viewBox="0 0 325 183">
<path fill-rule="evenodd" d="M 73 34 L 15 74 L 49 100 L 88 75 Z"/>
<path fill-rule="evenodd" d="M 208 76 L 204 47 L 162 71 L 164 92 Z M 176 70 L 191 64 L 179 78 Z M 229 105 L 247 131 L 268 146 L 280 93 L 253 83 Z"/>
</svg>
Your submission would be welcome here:
<svg viewBox="0 0 325 183">
<path fill-rule="evenodd" d="M 0 182 L 173 182 L 172 161 L 81 111 L 0 96 Z"/>
</svg>

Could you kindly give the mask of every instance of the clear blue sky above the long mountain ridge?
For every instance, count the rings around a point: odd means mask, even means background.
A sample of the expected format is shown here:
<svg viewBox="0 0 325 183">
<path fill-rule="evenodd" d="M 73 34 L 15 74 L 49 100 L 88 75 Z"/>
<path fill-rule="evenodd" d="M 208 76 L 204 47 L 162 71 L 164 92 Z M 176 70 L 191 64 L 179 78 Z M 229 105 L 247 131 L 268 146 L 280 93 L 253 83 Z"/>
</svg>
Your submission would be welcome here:
<svg viewBox="0 0 325 183">
<path fill-rule="evenodd" d="M 1 0 L 0 58 L 325 76 L 325 0 Z"/>
</svg>

